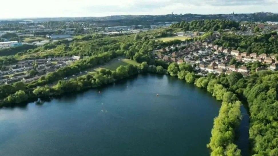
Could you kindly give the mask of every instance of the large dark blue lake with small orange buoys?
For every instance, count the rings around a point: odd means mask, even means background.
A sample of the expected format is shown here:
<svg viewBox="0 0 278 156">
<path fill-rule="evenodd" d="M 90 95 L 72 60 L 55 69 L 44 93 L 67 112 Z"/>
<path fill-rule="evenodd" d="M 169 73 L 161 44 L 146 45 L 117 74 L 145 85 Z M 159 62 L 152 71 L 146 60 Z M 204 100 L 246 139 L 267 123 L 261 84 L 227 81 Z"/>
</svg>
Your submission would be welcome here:
<svg viewBox="0 0 278 156">
<path fill-rule="evenodd" d="M 0 109 L 0 155 L 209 155 L 221 102 L 205 90 L 148 74 L 98 91 Z"/>
</svg>

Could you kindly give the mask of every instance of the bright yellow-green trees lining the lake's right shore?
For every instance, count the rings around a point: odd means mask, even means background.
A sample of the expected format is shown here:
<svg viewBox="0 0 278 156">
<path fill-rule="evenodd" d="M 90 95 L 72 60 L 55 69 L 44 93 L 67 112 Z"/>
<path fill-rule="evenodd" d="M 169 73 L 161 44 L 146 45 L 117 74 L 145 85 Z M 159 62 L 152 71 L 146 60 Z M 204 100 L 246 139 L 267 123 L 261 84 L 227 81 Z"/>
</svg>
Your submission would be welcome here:
<svg viewBox="0 0 278 156">
<path fill-rule="evenodd" d="M 190 64 L 171 63 L 168 73 L 171 76 L 178 76 L 179 79 L 188 83 L 194 83 L 199 88 L 206 88 L 217 100 L 223 101 L 219 116 L 214 120 L 212 137 L 207 147 L 211 149 L 212 156 L 240 156 L 241 150 L 234 144 L 235 130 L 241 120 L 241 102 L 238 101 L 237 95 L 220 84 L 221 78 L 216 78 L 214 74 L 209 74 L 207 77 L 199 77 L 194 74 Z M 221 77 L 225 77 L 225 75 Z M 231 74 L 227 76 L 227 83 L 234 83 L 237 79 L 237 75 Z"/>
</svg>

